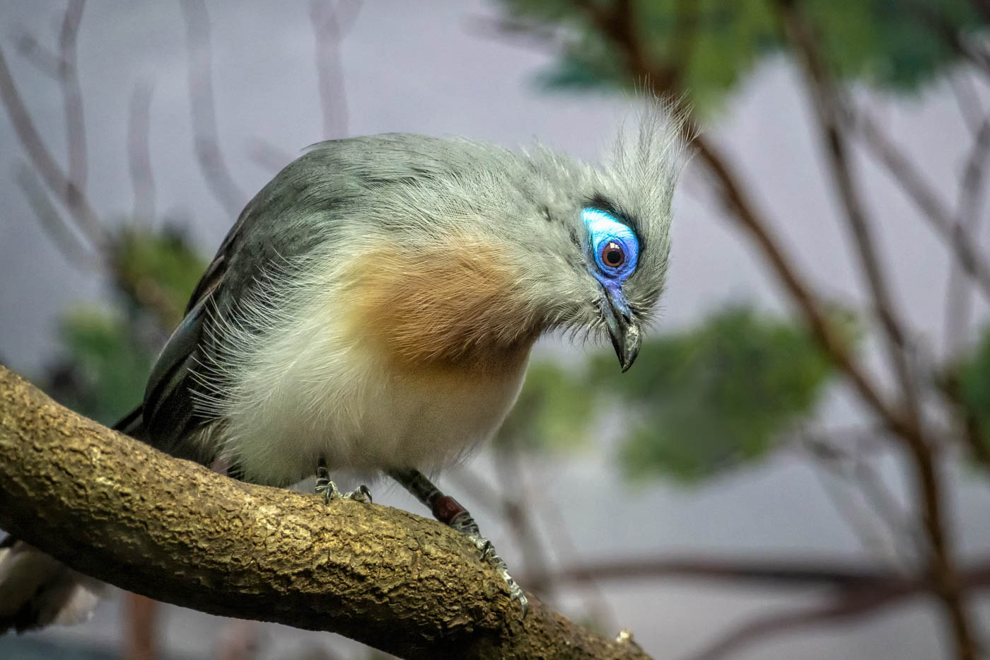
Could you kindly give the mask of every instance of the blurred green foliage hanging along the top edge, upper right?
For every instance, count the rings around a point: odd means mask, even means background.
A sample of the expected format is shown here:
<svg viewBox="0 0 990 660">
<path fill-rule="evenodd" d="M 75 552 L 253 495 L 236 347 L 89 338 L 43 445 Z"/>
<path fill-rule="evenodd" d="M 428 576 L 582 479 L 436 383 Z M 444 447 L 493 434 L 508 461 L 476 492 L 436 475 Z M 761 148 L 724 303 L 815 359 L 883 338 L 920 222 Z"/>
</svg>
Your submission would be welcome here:
<svg viewBox="0 0 990 660">
<path fill-rule="evenodd" d="M 506 14 L 569 35 L 540 76 L 551 88 L 643 84 L 624 50 L 602 34 L 578 3 L 503 0 Z M 600 1 L 603 8 L 615 3 Z M 838 76 L 898 91 L 917 89 L 959 55 L 945 35 L 980 26 L 967 0 L 805 0 L 823 55 Z M 634 1 L 634 26 L 646 68 L 672 72 L 677 90 L 701 111 L 717 108 L 764 56 L 786 49 L 774 0 Z"/>
</svg>

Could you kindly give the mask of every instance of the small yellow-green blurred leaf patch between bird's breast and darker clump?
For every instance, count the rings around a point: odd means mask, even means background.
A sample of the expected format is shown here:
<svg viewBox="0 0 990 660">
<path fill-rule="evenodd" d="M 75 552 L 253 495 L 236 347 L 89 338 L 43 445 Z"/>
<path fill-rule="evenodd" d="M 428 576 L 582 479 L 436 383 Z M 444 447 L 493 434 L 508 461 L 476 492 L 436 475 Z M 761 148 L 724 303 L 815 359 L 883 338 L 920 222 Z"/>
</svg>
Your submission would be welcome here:
<svg viewBox="0 0 990 660">
<path fill-rule="evenodd" d="M 528 450 L 580 446 L 587 441 L 598 394 L 586 376 L 553 363 L 534 363 L 495 441 L 511 439 Z"/>
</svg>

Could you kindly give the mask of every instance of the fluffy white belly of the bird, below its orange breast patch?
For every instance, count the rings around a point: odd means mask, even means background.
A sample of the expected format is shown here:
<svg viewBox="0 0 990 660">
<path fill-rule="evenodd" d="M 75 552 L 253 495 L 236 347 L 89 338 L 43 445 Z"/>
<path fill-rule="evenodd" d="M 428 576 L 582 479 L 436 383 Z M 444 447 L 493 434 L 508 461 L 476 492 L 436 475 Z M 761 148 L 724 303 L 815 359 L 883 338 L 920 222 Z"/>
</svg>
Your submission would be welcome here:
<svg viewBox="0 0 990 660">
<path fill-rule="evenodd" d="M 495 433 L 523 384 L 529 346 L 497 366 L 413 368 L 329 320 L 252 337 L 227 365 L 209 441 L 248 481 L 291 484 L 321 458 L 332 471 L 446 467 Z"/>
</svg>

